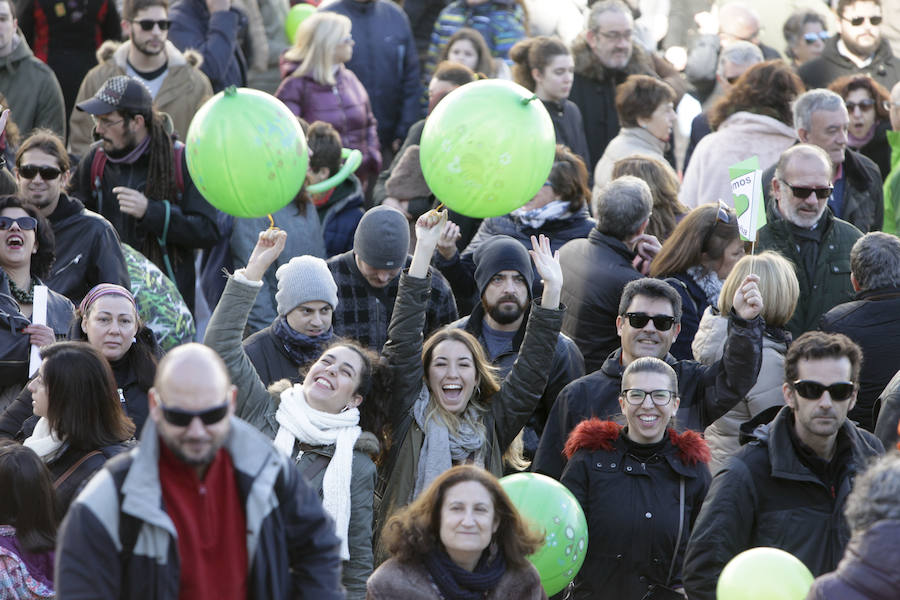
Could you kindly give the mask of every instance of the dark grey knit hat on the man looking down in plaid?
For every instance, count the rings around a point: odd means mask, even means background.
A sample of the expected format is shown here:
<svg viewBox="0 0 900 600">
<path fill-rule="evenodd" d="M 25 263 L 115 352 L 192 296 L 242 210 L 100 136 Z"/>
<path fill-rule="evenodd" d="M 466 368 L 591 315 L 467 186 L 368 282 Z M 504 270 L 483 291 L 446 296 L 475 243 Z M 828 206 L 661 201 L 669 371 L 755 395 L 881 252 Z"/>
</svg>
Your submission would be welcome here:
<svg viewBox="0 0 900 600">
<path fill-rule="evenodd" d="M 353 236 L 353 251 L 373 269 L 401 269 L 409 254 L 409 223 L 390 206 L 366 211 Z"/>
</svg>

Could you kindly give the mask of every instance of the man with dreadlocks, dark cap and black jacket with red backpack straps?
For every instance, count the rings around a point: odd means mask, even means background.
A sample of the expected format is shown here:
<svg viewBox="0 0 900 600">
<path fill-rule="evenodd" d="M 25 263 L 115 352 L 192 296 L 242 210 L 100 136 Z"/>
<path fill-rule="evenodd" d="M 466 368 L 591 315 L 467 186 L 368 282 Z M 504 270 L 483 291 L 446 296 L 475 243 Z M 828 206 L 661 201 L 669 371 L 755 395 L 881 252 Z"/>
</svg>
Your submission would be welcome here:
<svg viewBox="0 0 900 600">
<path fill-rule="evenodd" d="M 111 77 L 76 108 L 91 115 L 98 141 L 78 165 L 75 194 L 172 278 L 193 310 L 194 251 L 215 244 L 219 230 L 188 174 L 184 146 L 131 77 Z"/>
</svg>

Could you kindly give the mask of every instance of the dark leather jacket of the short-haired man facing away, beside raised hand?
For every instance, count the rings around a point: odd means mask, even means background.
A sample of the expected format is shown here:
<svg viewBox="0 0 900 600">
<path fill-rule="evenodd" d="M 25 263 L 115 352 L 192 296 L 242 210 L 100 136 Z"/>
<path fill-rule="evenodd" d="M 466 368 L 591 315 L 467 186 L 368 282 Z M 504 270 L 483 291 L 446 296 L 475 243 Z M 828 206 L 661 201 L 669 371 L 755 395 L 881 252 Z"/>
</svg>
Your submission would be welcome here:
<svg viewBox="0 0 900 600">
<path fill-rule="evenodd" d="M 642 275 L 634 268 L 635 253 L 623 242 L 592 229 L 587 239 L 573 240 L 559 251 L 567 311 L 563 333 L 584 356 L 585 372 L 593 373 L 619 347 L 616 317 L 619 298 L 629 281 Z"/>
</svg>

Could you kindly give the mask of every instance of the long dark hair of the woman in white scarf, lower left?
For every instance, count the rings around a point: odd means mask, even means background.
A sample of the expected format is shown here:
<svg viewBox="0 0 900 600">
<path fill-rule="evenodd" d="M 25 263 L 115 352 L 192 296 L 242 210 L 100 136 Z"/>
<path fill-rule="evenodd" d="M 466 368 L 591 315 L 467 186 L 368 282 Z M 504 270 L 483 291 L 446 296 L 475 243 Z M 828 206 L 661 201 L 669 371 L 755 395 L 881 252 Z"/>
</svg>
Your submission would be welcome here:
<svg viewBox="0 0 900 600">
<path fill-rule="evenodd" d="M 71 447 L 96 450 L 134 435 L 122 410 L 107 360 L 86 342 L 57 342 L 41 348 L 47 420 Z"/>
</svg>

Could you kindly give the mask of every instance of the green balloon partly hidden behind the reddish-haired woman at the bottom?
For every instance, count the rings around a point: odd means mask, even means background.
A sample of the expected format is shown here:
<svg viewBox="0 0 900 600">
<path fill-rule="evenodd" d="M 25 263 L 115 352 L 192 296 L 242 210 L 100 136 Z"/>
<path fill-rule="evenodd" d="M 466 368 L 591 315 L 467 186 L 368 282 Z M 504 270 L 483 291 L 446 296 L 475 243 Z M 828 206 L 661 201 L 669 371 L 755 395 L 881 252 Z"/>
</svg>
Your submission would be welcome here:
<svg viewBox="0 0 900 600">
<path fill-rule="evenodd" d="M 528 557 L 548 596 L 565 589 L 578 574 L 587 552 L 587 521 L 569 489 L 545 475 L 516 473 L 500 480 L 519 514 L 546 538 Z"/>
</svg>

